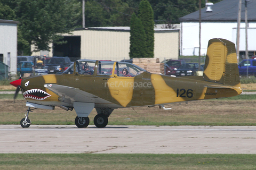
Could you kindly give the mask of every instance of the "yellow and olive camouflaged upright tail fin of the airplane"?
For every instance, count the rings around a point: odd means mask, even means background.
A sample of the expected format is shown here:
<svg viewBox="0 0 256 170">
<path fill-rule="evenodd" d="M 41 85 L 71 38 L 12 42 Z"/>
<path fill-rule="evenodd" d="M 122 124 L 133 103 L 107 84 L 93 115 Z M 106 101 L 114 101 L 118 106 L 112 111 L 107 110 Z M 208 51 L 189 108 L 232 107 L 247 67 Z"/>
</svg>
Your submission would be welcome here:
<svg viewBox="0 0 256 170">
<path fill-rule="evenodd" d="M 241 86 L 234 43 L 220 38 L 209 40 L 203 77 L 205 81 Z"/>
</svg>

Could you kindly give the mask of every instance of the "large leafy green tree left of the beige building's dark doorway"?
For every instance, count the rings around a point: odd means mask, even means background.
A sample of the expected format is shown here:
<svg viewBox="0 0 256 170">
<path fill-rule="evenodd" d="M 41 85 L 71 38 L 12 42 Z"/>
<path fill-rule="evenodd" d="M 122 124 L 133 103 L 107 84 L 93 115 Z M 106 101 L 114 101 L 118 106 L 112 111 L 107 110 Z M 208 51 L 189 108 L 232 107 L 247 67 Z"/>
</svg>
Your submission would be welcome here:
<svg viewBox="0 0 256 170">
<path fill-rule="evenodd" d="M 60 43 L 61 33 L 69 33 L 76 23 L 79 5 L 68 0 L 18 0 L 15 8 L 22 37 L 36 51 L 50 50 Z M 63 43 L 63 42 L 61 42 Z"/>
</svg>

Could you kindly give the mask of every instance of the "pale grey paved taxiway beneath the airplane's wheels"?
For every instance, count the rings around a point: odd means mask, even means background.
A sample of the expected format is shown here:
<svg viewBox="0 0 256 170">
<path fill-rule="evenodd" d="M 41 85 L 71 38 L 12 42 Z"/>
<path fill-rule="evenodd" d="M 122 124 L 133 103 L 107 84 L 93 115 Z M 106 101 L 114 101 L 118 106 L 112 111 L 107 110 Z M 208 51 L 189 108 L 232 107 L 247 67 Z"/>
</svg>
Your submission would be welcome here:
<svg viewBox="0 0 256 170">
<path fill-rule="evenodd" d="M 256 154 L 256 126 L 0 125 L 0 153 Z"/>
</svg>

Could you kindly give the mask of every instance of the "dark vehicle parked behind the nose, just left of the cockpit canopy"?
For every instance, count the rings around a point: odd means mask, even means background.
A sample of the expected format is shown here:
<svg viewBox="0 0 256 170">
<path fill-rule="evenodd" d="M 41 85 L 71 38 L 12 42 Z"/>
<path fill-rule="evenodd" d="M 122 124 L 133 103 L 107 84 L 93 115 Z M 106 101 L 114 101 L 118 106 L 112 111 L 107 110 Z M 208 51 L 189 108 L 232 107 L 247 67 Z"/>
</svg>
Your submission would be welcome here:
<svg viewBox="0 0 256 170">
<path fill-rule="evenodd" d="M 48 61 L 46 60 L 46 68 L 51 73 L 62 73 L 65 67 L 71 65 L 69 57 L 52 57 Z"/>
</svg>

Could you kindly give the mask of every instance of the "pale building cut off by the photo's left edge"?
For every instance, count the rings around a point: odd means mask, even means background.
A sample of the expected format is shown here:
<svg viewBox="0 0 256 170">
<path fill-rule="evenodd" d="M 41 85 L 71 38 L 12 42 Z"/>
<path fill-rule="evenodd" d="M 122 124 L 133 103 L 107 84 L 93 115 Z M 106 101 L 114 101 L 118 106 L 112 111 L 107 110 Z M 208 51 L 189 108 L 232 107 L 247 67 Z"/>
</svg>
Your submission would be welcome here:
<svg viewBox="0 0 256 170">
<path fill-rule="evenodd" d="M 0 61 L 9 66 L 9 75 L 17 74 L 18 21 L 0 20 Z"/>
</svg>

